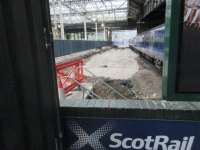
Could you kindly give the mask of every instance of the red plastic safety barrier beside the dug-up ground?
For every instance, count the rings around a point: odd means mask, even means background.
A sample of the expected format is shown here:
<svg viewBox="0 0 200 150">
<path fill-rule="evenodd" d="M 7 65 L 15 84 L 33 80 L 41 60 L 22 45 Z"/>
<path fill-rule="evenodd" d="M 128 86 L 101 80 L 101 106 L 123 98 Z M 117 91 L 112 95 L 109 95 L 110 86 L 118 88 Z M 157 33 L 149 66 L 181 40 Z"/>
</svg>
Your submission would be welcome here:
<svg viewBox="0 0 200 150">
<path fill-rule="evenodd" d="M 76 59 L 56 64 L 56 73 L 58 81 L 60 79 L 65 94 L 79 86 L 78 82 L 82 82 L 83 75 L 83 59 Z"/>
</svg>

